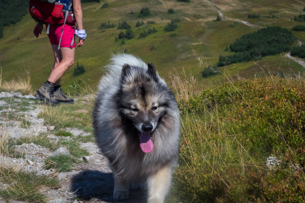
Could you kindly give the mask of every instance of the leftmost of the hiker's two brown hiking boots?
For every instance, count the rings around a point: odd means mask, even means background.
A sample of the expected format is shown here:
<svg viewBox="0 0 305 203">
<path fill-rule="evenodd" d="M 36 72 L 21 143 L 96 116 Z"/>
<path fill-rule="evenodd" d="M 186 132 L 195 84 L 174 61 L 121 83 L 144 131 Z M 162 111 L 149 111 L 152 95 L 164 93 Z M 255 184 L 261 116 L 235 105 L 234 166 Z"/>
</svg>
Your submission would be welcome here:
<svg viewBox="0 0 305 203">
<path fill-rule="evenodd" d="M 58 105 L 59 102 L 53 97 L 54 86 L 45 82 L 35 93 L 35 97 L 39 100 L 45 101 L 47 104 Z"/>
</svg>

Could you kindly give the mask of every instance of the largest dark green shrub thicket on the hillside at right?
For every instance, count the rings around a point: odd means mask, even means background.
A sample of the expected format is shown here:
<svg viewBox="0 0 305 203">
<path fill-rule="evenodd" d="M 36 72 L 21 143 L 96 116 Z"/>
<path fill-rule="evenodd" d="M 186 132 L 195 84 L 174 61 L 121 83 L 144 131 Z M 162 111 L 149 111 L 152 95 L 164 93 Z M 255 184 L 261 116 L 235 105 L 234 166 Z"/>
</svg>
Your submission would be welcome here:
<svg viewBox="0 0 305 203">
<path fill-rule="evenodd" d="M 291 49 L 295 36 L 282 27 L 267 27 L 257 32 L 243 35 L 230 45 L 236 52 L 231 56 L 219 56 L 218 66 L 242 61 L 255 60 L 268 55 L 275 55 Z"/>
</svg>

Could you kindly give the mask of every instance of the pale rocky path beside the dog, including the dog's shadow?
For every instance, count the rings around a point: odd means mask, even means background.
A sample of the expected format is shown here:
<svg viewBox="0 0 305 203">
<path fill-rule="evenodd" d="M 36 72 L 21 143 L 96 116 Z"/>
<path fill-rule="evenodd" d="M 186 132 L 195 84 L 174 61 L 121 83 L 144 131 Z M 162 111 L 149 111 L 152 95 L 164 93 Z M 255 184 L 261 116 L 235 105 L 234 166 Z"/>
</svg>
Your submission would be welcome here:
<svg viewBox="0 0 305 203">
<path fill-rule="evenodd" d="M 0 107 L 2 107 L 0 111 L 0 115 L 2 115 L 0 116 L 0 120 L 2 120 L 0 132 L 2 134 L 0 136 L 8 135 L 9 138 L 16 139 L 21 136 L 34 136 L 41 132 L 47 132 L 48 137 L 51 139 L 62 139 L 52 134 L 54 126 L 48 126 L 44 119 L 38 118 L 39 112 L 42 111 L 41 104 L 32 95 L 23 96 L 20 93 L 2 92 L 0 93 L 0 99 Z M 25 111 L 20 106 L 22 102 L 26 102 L 28 105 Z M 16 115 L 22 115 L 20 118 L 29 121 L 30 126 L 24 127 L 22 122 L 16 121 L 16 119 L 9 119 L 11 115 L 14 115 L 15 118 Z M 77 128 L 67 127 L 65 130 L 71 132 L 74 136 L 87 136 L 90 134 Z M 71 138 L 65 137 L 65 139 Z M 56 175 L 60 181 L 58 188 L 44 189 L 42 191 L 49 203 L 114 202 L 112 197 L 114 180 L 107 166 L 106 158 L 99 153 L 99 148 L 94 141 L 81 143 L 81 147 L 88 150 L 90 156 L 82 157 L 81 160 L 86 161 L 86 163 L 81 162 L 70 172 L 58 173 L 53 169 L 45 170 L 43 161 L 48 156 L 51 156 L 53 151 L 33 143 L 23 143 L 12 147 L 14 150 L 25 153 L 24 159 L 2 156 L 0 157 L 0 164 L 5 167 L 16 167 L 19 170 L 34 172 L 38 175 Z M 129 199 L 121 202 L 146 202 L 145 199 L 144 190 L 136 191 L 130 188 Z M 4 202 L 4 199 L 0 196 L 1 202 Z M 22 201 L 11 202 L 22 203 Z"/>
</svg>

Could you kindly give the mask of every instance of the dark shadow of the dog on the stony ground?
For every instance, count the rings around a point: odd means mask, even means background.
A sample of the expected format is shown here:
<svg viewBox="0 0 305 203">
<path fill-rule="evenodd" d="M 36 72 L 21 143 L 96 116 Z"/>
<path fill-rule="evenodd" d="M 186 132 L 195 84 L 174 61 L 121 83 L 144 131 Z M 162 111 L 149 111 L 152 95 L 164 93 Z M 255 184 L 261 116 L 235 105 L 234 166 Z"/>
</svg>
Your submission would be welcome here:
<svg viewBox="0 0 305 203">
<path fill-rule="evenodd" d="M 71 178 L 70 191 L 74 192 L 82 200 L 92 198 L 107 202 L 113 200 L 114 178 L 112 173 L 104 173 L 98 170 L 84 170 Z M 145 190 L 132 190 L 129 188 L 128 200 L 123 202 L 146 202 Z"/>
</svg>

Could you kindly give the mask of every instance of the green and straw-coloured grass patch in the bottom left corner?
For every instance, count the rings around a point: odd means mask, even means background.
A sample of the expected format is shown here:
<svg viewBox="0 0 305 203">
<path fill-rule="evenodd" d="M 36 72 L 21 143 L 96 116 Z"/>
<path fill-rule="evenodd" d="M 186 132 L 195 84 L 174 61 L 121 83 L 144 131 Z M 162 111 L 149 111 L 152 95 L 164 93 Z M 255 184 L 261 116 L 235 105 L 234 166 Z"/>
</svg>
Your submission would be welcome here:
<svg viewBox="0 0 305 203">
<path fill-rule="evenodd" d="M 45 195 L 41 194 L 41 187 L 56 187 L 56 177 L 38 176 L 34 173 L 0 168 L 0 182 L 6 184 L 1 187 L 0 195 L 6 201 L 19 200 L 26 202 L 45 202 Z"/>
</svg>

